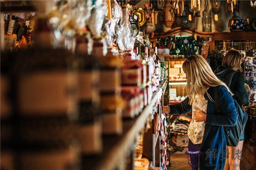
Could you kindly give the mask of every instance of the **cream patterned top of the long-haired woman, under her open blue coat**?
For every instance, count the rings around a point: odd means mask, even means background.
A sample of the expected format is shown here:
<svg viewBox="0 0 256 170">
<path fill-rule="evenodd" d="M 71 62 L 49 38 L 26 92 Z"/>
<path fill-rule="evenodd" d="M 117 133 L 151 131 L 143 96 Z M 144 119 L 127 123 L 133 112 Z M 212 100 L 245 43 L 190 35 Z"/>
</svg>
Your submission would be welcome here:
<svg viewBox="0 0 256 170">
<path fill-rule="evenodd" d="M 192 104 L 192 119 L 189 124 L 188 136 L 193 144 L 201 144 L 204 136 L 205 122 L 195 122 L 194 113 L 197 111 L 207 111 L 207 99 L 204 96 L 195 96 L 195 100 Z"/>
</svg>

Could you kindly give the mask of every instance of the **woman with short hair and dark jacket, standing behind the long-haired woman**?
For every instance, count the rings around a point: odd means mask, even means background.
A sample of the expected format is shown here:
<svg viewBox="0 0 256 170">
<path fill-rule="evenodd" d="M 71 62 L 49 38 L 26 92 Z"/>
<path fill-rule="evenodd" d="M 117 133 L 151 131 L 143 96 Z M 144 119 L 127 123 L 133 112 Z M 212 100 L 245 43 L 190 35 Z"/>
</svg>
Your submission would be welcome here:
<svg viewBox="0 0 256 170">
<path fill-rule="evenodd" d="M 243 60 L 242 54 L 236 49 L 230 49 L 225 55 L 222 66 L 219 66 L 216 75 L 224 80 L 233 92 L 233 98 L 239 103 L 241 108 L 249 108 L 249 98 L 244 86 L 244 77 L 241 68 Z M 233 75 L 233 76 L 231 76 Z M 242 132 L 239 143 L 236 147 L 228 147 L 228 159 L 225 170 L 240 170 L 241 151 L 244 144 L 244 132 Z M 239 152 L 239 153 L 238 153 Z M 239 154 L 239 156 L 237 156 Z"/>
</svg>

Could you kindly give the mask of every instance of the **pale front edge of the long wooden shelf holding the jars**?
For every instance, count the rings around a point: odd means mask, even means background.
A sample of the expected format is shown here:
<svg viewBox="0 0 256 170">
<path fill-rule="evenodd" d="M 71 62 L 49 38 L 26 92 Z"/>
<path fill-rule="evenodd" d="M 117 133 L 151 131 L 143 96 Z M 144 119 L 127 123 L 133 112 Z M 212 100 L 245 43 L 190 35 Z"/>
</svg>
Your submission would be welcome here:
<svg viewBox="0 0 256 170">
<path fill-rule="evenodd" d="M 166 85 L 166 83 L 167 79 L 160 83 L 157 88 L 158 90 L 153 94 L 151 103 L 143 109 L 143 112 L 138 116 L 131 129 L 129 129 L 124 134 L 122 139 L 120 139 L 120 141 L 117 142 L 114 147 L 108 150 L 108 153 L 104 155 L 104 158 L 102 160 L 99 160 L 99 164 L 95 168 L 96 170 L 114 169 L 119 159 L 125 156 L 125 153 L 127 153 L 127 151 L 131 149 L 131 145 L 134 143 L 134 139 L 136 138 L 137 134 L 145 127 L 145 123 L 148 116 L 152 112 L 152 108 L 157 103 L 157 101 L 160 100 L 163 93 L 162 88 L 164 85 Z"/>
</svg>

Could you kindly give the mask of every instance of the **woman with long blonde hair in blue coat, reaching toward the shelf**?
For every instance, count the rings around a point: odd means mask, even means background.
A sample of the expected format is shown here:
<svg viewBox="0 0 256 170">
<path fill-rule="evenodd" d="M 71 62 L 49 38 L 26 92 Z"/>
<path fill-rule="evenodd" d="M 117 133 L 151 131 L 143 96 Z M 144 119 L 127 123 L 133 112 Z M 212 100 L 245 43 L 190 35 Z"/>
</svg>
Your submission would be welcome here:
<svg viewBox="0 0 256 170">
<path fill-rule="evenodd" d="M 223 126 L 234 126 L 237 111 L 232 94 L 212 72 L 200 55 L 192 55 L 183 63 L 186 74 L 188 98 L 180 104 L 163 107 L 163 113 L 187 113 L 192 111 L 189 124 L 189 150 L 192 170 L 223 170 L 226 161 L 227 142 Z M 218 90 L 221 113 L 215 111 L 214 91 Z"/>
</svg>

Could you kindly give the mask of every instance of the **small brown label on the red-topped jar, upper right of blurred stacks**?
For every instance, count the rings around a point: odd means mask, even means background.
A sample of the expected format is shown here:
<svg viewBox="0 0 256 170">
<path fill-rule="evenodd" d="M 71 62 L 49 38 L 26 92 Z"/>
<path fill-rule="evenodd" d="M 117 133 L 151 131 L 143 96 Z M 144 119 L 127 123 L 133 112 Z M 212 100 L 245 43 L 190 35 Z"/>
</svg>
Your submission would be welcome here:
<svg viewBox="0 0 256 170">
<path fill-rule="evenodd" d="M 124 85 L 140 85 L 141 84 L 140 68 L 123 69 L 122 70 L 122 84 L 124 84 Z"/>
</svg>

